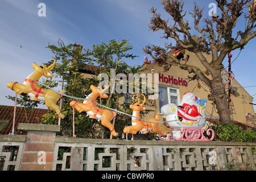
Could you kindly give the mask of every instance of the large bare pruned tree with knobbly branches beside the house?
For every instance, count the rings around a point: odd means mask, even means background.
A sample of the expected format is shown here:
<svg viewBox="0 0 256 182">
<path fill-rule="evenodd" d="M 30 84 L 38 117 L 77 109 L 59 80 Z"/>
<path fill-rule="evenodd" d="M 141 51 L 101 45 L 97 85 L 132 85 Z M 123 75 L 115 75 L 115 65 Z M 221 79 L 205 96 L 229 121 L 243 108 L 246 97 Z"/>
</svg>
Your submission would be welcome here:
<svg viewBox="0 0 256 182">
<path fill-rule="evenodd" d="M 243 48 L 251 39 L 256 36 L 255 20 L 256 11 L 253 0 L 215 0 L 218 9 L 221 10 L 221 16 L 212 14 L 203 18 L 203 10 L 195 4 L 193 10 L 189 12 L 194 19 L 193 28 L 189 26 L 188 20 L 184 16 L 187 11 L 183 10 L 183 1 L 178 0 L 162 0 L 161 4 L 164 10 L 171 15 L 174 23 L 168 25 L 168 20 L 160 17 L 156 13 L 154 7 L 150 12 L 153 14 L 150 19 L 150 30 L 164 31 L 162 38 L 172 38 L 181 48 L 187 49 L 195 53 L 205 69 L 212 75 L 212 80 L 204 75 L 204 71 L 199 69 L 196 65 L 188 65 L 189 57 L 185 59 L 177 59 L 173 55 L 175 46 L 172 44 L 165 44 L 165 47 L 148 45 L 143 48 L 143 51 L 149 54 L 159 65 L 162 65 L 165 71 L 171 68 L 172 65 L 187 70 L 188 73 L 194 73 L 195 77 L 199 78 L 206 85 L 209 86 L 213 101 L 216 104 L 221 123 L 231 123 L 230 113 L 228 109 L 228 101 L 226 98 L 225 86 L 222 83 L 221 71 L 224 69 L 222 61 L 225 56 L 234 49 Z M 246 7 L 249 8 L 245 9 Z M 243 10 L 247 11 L 247 14 Z M 233 28 L 236 27 L 238 18 L 244 15 L 248 20 L 245 31 L 238 31 L 233 33 Z M 203 26 L 200 26 L 203 24 Z M 196 30 L 196 36 L 191 34 L 192 30 Z M 234 36 L 235 35 L 235 36 Z M 233 37 L 234 36 L 234 37 Z M 207 60 L 203 53 L 210 53 L 212 60 Z M 194 78 L 195 78 L 194 77 Z"/>
</svg>

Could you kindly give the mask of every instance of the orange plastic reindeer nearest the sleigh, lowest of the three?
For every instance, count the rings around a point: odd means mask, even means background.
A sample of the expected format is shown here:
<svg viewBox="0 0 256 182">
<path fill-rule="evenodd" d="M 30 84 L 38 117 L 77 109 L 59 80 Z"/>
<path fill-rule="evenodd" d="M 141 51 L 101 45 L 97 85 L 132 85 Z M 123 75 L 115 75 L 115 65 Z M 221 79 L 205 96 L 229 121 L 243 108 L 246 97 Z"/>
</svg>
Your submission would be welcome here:
<svg viewBox="0 0 256 182">
<path fill-rule="evenodd" d="M 133 116 L 137 118 L 141 118 L 140 111 L 146 110 L 146 107 L 144 106 L 146 102 L 146 97 L 143 94 L 142 96 L 144 97 L 142 104 L 139 103 L 139 97 L 137 94 L 138 102 L 136 102 L 133 105 L 130 105 L 130 108 L 133 109 Z M 160 133 L 164 136 L 167 135 L 166 132 L 164 132 L 160 127 L 158 127 L 157 121 L 159 120 L 159 114 L 156 114 L 155 118 L 148 119 L 148 121 L 152 122 L 142 121 L 141 119 L 137 119 L 135 117 L 131 118 L 132 126 L 126 126 L 125 129 L 123 129 L 123 133 L 137 134 L 137 132 L 139 131 L 142 132 L 142 134 L 146 134 L 149 131 L 152 131 L 152 133 Z"/>
</svg>

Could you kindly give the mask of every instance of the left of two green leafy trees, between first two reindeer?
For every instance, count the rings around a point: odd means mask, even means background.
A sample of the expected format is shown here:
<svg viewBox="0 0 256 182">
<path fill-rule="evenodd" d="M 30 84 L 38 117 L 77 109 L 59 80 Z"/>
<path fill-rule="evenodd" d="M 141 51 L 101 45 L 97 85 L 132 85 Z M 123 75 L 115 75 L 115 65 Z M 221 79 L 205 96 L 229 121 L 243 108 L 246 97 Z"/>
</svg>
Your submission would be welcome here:
<svg viewBox="0 0 256 182">
<path fill-rule="evenodd" d="M 88 52 L 85 50 L 82 51 L 81 47 L 76 44 L 69 43 L 65 46 L 64 42 L 60 39 L 58 44 L 59 47 L 52 44 L 49 44 L 47 47 L 51 49 L 57 60 L 55 68 L 52 70 L 53 75 L 55 75 L 56 81 L 61 86 L 61 90 L 65 90 L 64 94 L 72 97 L 84 97 L 88 83 L 82 79 L 79 68 L 90 62 Z M 73 49 L 74 46 L 75 48 Z M 50 65 L 51 63 L 52 62 L 49 61 L 46 65 Z M 61 112 L 65 114 L 65 118 L 60 121 L 61 131 L 64 135 L 72 136 L 73 109 L 69 105 L 69 102 L 71 102 L 73 98 L 62 97 L 62 99 Z M 52 111 L 44 115 L 42 123 L 57 125 L 58 120 L 59 118 Z M 88 133 L 90 133 L 88 118 L 76 112 L 75 121 L 75 133 L 81 137 L 88 137 Z"/>
</svg>

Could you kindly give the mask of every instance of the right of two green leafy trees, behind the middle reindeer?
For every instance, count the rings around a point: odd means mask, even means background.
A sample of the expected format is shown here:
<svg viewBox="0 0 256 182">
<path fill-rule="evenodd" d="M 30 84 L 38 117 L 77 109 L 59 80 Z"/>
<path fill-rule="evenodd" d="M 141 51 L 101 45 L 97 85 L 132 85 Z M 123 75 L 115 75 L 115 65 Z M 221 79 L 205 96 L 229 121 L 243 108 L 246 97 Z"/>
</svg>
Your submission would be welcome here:
<svg viewBox="0 0 256 182">
<path fill-rule="evenodd" d="M 93 63 L 100 65 L 100 69 L 96 72 L 96 79 L 100 80 L 100 82 L 104 81 L 103 79 L 101 80 L 100 74 L 105 73 L 110 78 L 109 81 L 112 84 L 109 89 L 109 97 L 106 100 L 100 98 L 100 104 L 128 114 L 131 114 L 131 110 L 129 108 L 130 103 L 127 101 L 131 101 L 131 95 L 127 92 L 127 89 L 124 93 L 116 92 L 115 86 L 122 85 L 125 88 L 129 87 L 128 79 L 122 80 L 116 77 L 119 73 L 127 77 L 129 73 L 137 73 L 142 70 L 140 66 L 131 67 L 126 64 L 125 59 L 133 60 L 134 57 L 137 57 L 129 53 L 131 49 L 132 46 L 129 45 L 128 40 L 118 40 L 118 42 L 116 40 L 110 40 L 108 44 L 94 45 L 89 53 L 92 56 Z M 114 73 L 114 75 L 111 73 Z M 129 125 L 130 121 L 130 117 L 118 113 L 115 119 L 115 131 L 119 134 L 122 133 L 123 128 Z M 109 138 L 109 136 L 109 130 L 101 126 L 101 137 Z"/>
</svg>

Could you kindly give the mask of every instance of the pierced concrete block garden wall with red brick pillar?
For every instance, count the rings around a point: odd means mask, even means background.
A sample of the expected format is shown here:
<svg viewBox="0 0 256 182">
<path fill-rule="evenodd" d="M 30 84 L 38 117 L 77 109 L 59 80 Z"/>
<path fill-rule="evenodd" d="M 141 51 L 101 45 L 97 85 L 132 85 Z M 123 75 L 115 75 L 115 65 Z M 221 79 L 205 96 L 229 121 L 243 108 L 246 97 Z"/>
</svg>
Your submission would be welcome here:
<svg viewBox="0 0 256 182">
<path fill-rule="evenodd" d="M 20 123 L 0 135 L 0 169 L 31 171 L 255 170 L 256 143 L 56 137 L 59 126 Z"/>
</svg>

